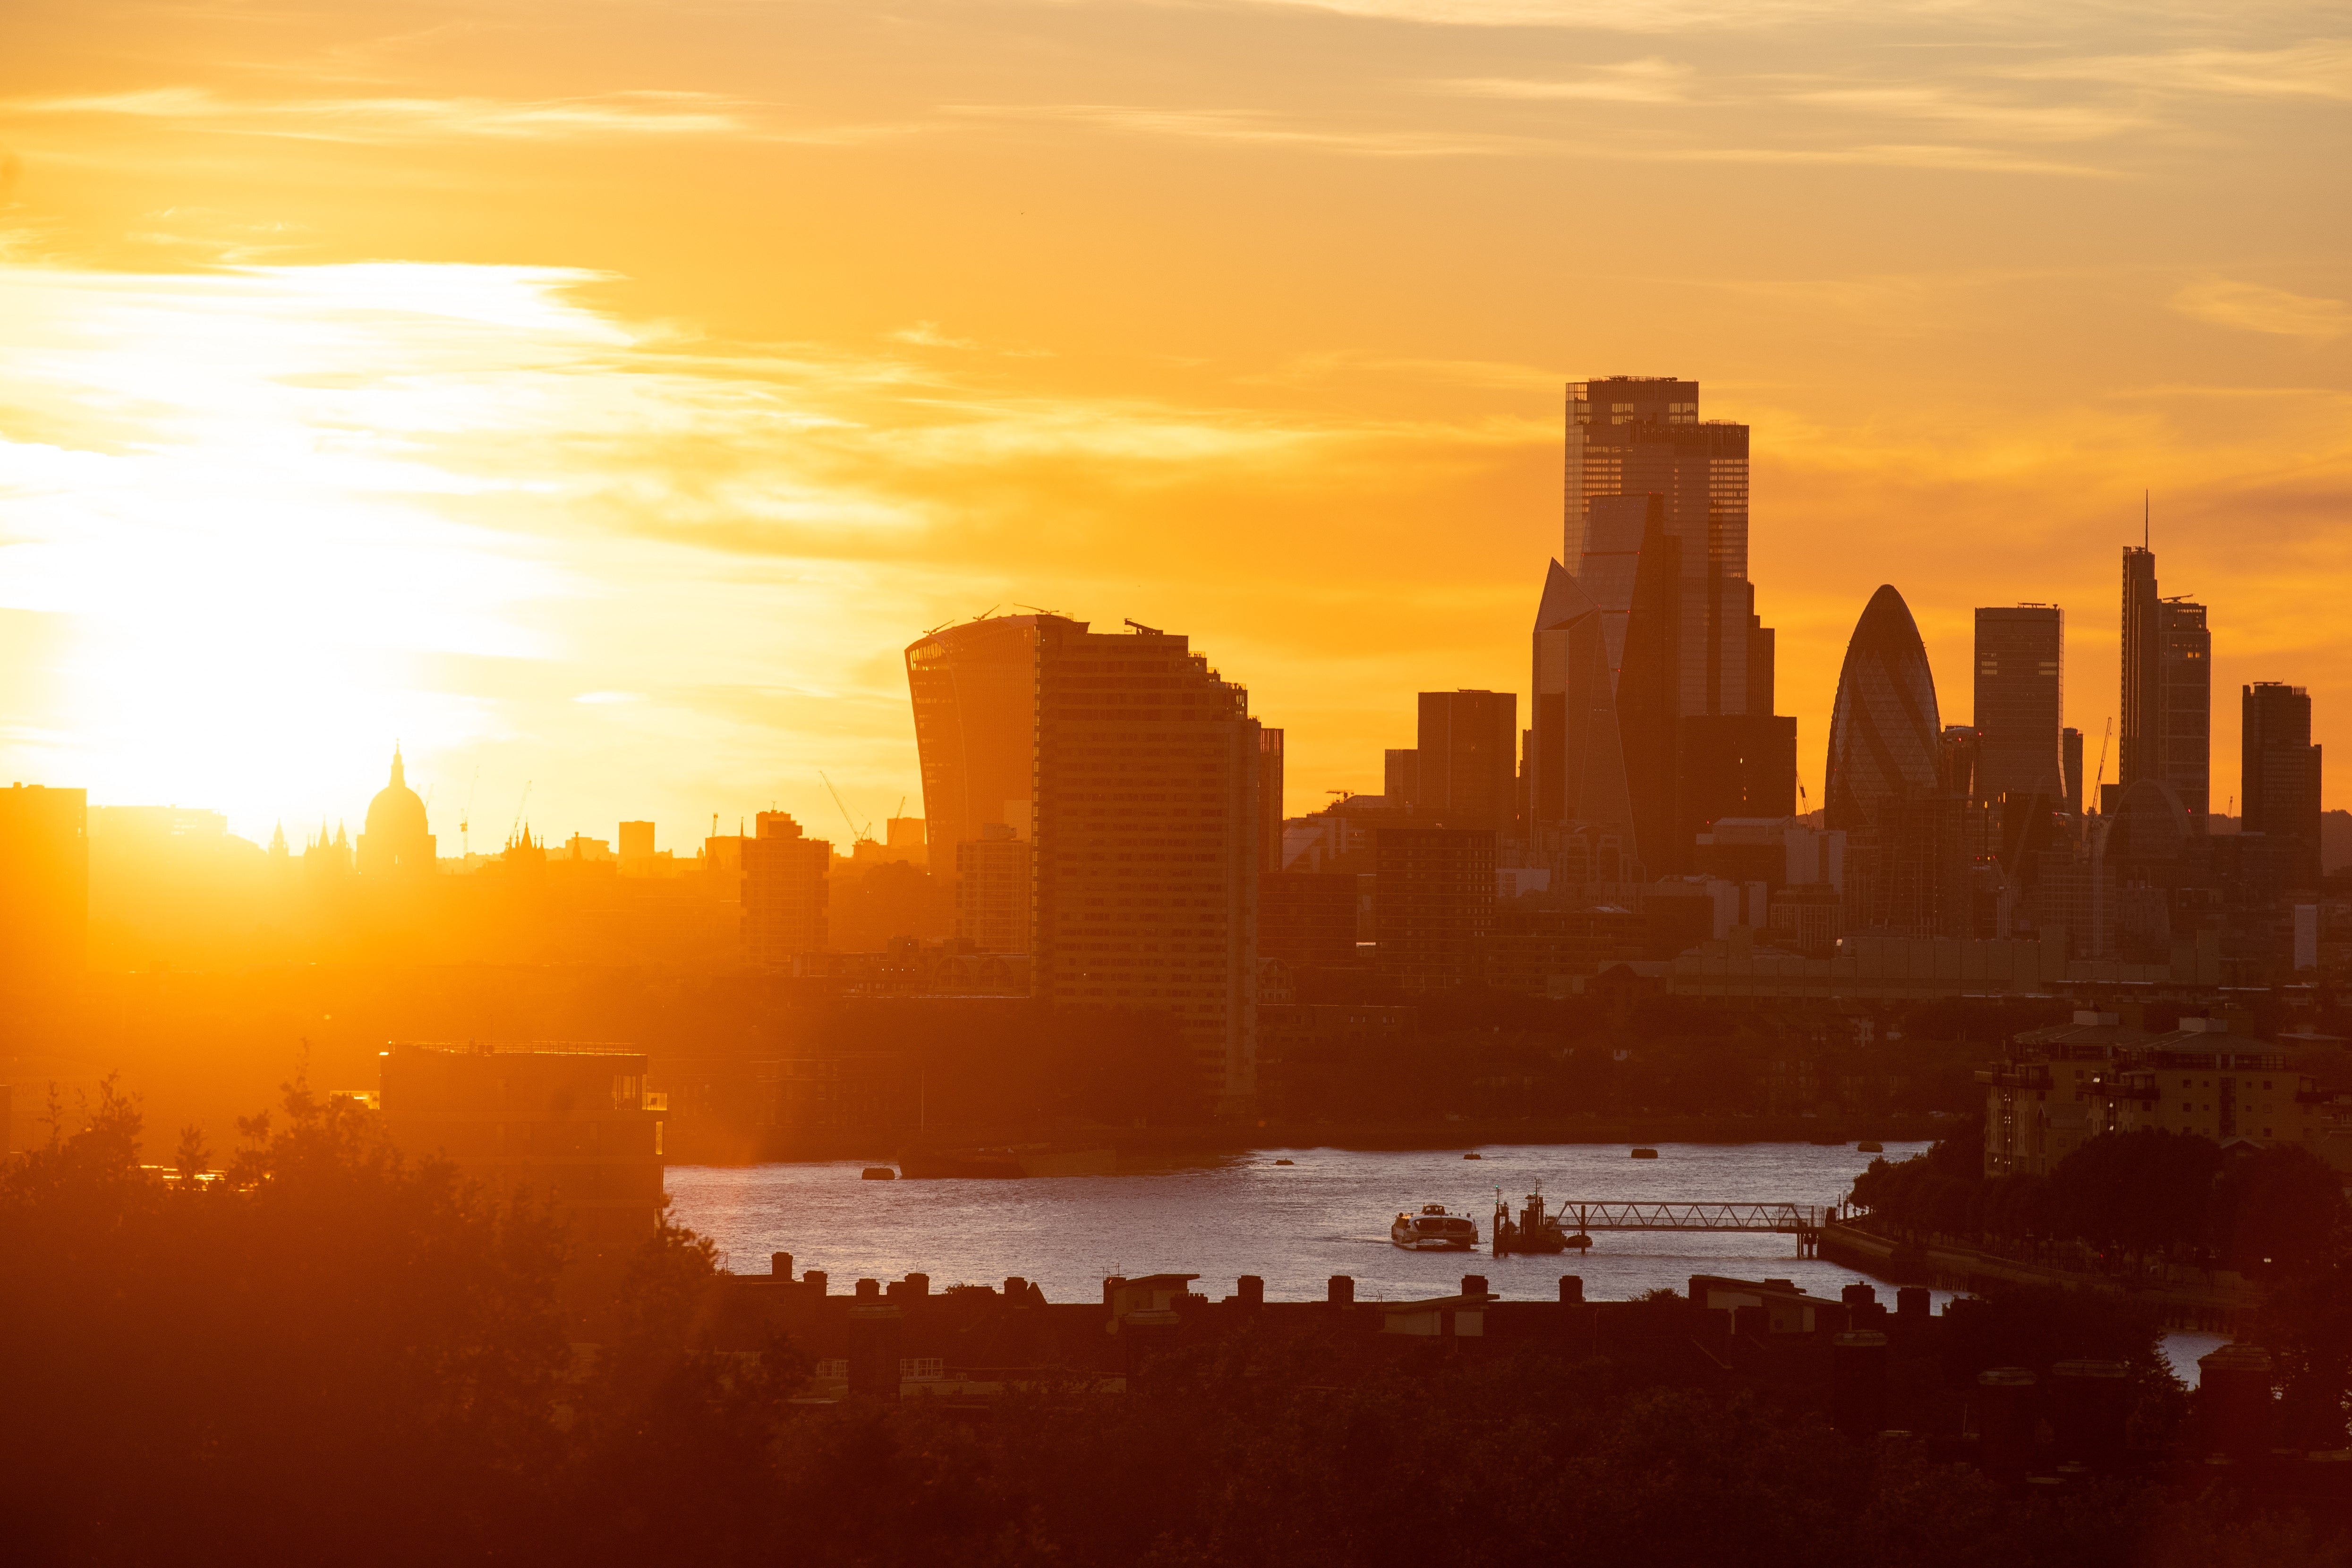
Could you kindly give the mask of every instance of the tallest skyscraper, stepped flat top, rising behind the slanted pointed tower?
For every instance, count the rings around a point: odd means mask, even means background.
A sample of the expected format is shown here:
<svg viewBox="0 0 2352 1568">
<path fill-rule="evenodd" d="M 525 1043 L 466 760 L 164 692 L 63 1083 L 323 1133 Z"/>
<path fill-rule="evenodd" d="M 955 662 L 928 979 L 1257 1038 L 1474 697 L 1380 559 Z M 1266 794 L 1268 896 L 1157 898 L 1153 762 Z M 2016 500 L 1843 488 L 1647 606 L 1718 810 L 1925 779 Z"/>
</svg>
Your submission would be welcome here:
<svg viewBox="0 0 2352 1568">
<path fill-rule="evenodd" d="M 1665 501 L 1665 531 L 1682 541 L 1677 712 L 1771 712 L 1769 693 L 1748 691 L 1752 642 L 1766 630 L 1748 583 L 1748 425 L 1700 423 L 1696 381 L 1571 381 L 1559 555 L 1569 571 L 1583 576 L 1592 503 L 1639 494 Z"/>
</svg>

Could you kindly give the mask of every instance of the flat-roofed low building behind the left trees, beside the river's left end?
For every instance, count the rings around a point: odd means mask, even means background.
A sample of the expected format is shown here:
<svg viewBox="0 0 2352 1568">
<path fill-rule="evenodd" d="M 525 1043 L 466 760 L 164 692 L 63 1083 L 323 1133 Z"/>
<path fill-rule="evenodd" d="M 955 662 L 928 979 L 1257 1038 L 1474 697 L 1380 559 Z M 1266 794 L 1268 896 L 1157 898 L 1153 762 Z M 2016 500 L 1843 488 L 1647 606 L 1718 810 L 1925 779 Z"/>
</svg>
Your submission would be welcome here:
<svg viewBox="0 0 2352 1568">
<path fill-rule="evenodd" d="M 586 1253 L 623 1255 L 661 1218 L 661 1110 L 623 1046 L 440 1046 L 379 1058 L 383 1131 L 506 1197 L 532 1192 Z"/>
</svg>

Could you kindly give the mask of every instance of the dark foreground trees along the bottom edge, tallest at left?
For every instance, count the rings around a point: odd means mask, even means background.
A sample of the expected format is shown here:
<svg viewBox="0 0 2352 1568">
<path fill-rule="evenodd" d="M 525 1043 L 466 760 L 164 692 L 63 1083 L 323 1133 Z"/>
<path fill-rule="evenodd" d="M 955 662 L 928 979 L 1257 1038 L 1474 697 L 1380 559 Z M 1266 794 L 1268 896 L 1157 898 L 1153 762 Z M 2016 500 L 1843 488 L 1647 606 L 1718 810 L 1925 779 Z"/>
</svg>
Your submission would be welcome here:
<svg viewBox="0 0 2352 1568">
<path fill-rule="evenodd" d="M 1047 1389 L 978 1422 L 795 1406 L 793 1345 L 701 1340 L 713 1255 L 687 1232 L 583 1312 L 546 1213 L 400 1161 L 365 1117 L 296 1086 L 242 1133 L 226 1178 L 169 1180 L 108 1091 L 0 1178 L 7 1561 L 2352 1561 L 2227 1493 L 2027 1500 L 1917 1443 L 1844 1443 L 1818 1392 L 1559 1349 L 1364 1375 L 1329 1335 L 1268 1331 L 1134 1396 Z M 2034 1295 L 1952 1338 L 1943 1399 L 2082 1354 L 2178 1403 L 2145 1316 Z"/>
</svg>

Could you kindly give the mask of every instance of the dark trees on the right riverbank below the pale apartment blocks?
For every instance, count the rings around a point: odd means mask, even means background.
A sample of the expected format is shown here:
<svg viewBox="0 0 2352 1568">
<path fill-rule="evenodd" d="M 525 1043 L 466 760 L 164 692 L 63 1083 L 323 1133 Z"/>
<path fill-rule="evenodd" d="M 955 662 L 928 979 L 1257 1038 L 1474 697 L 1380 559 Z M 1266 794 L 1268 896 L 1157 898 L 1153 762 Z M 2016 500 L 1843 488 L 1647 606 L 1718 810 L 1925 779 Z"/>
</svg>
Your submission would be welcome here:
<svg viewBox="0 0 2352 1568">
<path fill-rule="evenodd" d="M 2223 1150 L 2143 1128 L 2091 1138 L 2049 1175 L 1983 1173 L 1983 1121 L 1926 1154 L 1870 1161 L 1853 1201 L 1907 1237 L 2011 1251 L 2070 1244 L 2117 1272 L 2232 1269 L 2263 1281 L 2263 1340 L 2286 1366 L 2286 1415 L 2314 1441 L 2352 1418 L 2352 1204 L 2307 1150 Z M 2072 1260 L 2072 1258 L 2070 1258 Z"/>
</svg>

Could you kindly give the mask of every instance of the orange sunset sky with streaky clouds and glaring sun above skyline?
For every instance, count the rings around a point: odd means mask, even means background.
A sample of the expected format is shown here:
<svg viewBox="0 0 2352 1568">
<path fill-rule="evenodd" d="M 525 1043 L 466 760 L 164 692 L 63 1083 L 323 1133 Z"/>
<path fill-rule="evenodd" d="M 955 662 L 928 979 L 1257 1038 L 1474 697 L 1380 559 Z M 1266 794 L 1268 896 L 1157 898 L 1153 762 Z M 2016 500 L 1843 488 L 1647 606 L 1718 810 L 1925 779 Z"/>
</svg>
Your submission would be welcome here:
<svg viewBox="0 0 2352 1568">
<path fill-rule="evenodd" d="M 2352 26 L 2077 0 L 12 0 L 0 780 L 442 853 L 920 811 L 901 649 L 1190 632 L 1378 790 L 1526 686 L 1559 383 L 1755 425 L 1818 802 L 1896 583 L 2067 609 L 2117 548 L 2352 769 Z M 2114 776 L 2110 755 L 2107 778 Z"/>
</svg>

